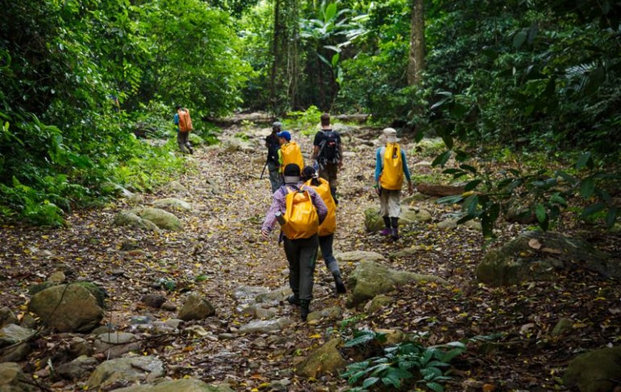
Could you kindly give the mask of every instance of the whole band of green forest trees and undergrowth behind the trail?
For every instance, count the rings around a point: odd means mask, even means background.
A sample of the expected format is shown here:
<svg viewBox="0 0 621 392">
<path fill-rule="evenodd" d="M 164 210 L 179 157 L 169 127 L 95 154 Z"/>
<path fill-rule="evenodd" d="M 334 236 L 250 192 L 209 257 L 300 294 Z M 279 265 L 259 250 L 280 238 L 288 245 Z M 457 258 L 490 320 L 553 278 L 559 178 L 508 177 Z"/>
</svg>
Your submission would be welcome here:
<svg viewBox="0 0 621 392">
<path fill-rule="evenodd" d="M 173 142 L 135 135 L 171 139 L 181 104 L 206 139 L 234 111 L 315 106 L 439 135 L 439 165 L 460 156 L 455 140 L 545 152 L 590 170 L 565 174 L 615 221 L 620 1 L 24 0 L 3 13 L 4 218 L 61 225 L 114 185 L 186 170 Z"/>
</svg>

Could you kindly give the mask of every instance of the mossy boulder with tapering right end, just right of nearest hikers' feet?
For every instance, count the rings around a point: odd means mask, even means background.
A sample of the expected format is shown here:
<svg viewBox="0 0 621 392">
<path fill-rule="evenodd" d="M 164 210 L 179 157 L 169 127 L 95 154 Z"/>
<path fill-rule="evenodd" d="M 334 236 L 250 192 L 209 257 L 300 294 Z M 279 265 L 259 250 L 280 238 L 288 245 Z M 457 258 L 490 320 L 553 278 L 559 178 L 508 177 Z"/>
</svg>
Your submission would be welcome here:
<svg viewBox="0 0 621 392">
<path fill-rule="evenodd" d="M 432 275 L 390 269 L 375 262 L 360 262 L 349 277 L 350 295 L 346 306 L 354 307 L 374 298 L 378 294 L 392 292 L 408 282 L 438 282 L 448 284 L 445 279 Z"/>
</svg>

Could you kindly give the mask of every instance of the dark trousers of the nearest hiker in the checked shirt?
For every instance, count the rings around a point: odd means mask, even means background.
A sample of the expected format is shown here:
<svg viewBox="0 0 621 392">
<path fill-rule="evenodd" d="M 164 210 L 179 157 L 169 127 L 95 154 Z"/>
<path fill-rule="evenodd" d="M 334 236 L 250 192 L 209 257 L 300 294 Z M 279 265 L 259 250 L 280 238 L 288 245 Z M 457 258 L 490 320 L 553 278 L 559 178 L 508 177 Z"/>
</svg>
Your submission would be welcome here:
<svg viewBox="0 0 621 392">
<path fill-rule="evenodd" d="M 285 237 L 285 254 L 289 262 L 289 287 L 301 301 L 313 299 L 313 279 L 317 261 L 317 234 L 308 238 Z"/>
</svg>

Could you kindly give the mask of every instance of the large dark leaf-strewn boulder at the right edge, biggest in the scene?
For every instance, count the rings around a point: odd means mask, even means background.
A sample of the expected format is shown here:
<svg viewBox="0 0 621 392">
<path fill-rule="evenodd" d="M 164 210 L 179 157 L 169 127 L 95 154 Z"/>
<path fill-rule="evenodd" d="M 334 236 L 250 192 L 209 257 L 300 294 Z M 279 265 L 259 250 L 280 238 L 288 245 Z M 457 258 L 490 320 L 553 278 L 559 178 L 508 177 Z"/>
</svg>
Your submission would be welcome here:
<svg viewBox="0 0 621 392">
<path fill-rule="evenodd" d="M 490 250 L 477 267 L 477 279 L 490 286 L 553 279 L 555 270 L 577 265 L 604 277 L 621 277 L 621 262 L 581 239 L 555 232 L 527 232 Z"/>
</svg>

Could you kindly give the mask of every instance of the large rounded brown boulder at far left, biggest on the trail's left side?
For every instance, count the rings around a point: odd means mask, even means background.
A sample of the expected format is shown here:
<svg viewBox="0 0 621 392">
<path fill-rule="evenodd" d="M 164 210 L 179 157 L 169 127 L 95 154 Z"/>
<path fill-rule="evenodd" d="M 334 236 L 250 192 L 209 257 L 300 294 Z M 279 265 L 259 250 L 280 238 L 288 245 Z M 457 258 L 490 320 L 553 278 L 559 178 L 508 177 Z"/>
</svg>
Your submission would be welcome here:
<svg viewBox="0 0 621 392">
<path fill-rule="evenodd" d="M 104 318 L 104 309 L 82 284 L 62 284 L 35 294 L 29 310 L 52 329 L 89 332 Z"/>
</svg>

